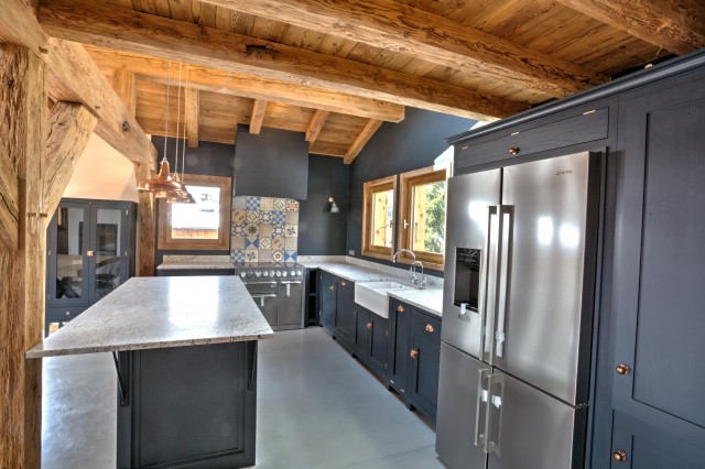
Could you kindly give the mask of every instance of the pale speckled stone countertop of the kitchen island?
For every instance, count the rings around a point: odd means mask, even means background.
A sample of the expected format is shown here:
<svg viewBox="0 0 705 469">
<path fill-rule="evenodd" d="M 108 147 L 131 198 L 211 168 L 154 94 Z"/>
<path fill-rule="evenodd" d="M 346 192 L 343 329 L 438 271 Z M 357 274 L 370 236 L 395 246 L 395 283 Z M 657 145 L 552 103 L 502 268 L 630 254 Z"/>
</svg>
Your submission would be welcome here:
<svg viewBox="0 0 705 469">
<path fill-rule="evenodd" d="M 258 340 L 273 336 L 236 276 L 133 277 L 26 358 Z"/>
</svg>

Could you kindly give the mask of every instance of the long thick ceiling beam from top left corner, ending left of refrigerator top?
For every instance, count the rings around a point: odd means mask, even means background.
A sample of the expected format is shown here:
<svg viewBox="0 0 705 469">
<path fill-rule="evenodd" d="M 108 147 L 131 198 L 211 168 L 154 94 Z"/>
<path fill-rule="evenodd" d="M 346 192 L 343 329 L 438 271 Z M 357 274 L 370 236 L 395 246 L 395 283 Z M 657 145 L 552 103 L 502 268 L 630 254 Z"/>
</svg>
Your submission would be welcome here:
<svg viewBox="0 0 705 469">
<path fill-rule="evenodd" d="M 484 96 L 427 78 L 139 13 L 101 1 L 43 2 L 40 22 L 50 34 L 82 43 L 171 57 L 270 79 L 305 83 L 328 90 L 471 119 L 507 117 L 529 107 L 524 102 Z"/>
</svg>

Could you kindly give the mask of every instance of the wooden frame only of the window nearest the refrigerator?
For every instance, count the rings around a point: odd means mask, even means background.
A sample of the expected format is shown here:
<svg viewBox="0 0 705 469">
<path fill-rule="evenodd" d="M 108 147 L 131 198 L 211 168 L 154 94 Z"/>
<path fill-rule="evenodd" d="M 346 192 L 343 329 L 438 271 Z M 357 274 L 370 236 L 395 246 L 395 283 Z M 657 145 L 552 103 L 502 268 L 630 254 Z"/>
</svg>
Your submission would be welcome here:
<svg viewBox="0 0 705 469">
<path fill-rule="evenodd" d="M 419 184 L 429 184 L 441 181 L 446 181 L 446 207 L 447 207 L 447 179 L 451 177 L 449 165 L 435 165 L 422 167 L 420 170 L 410 171 L 399 175 L 400 197 L 399 197 L 399 221 L 397 222 L 399 229 L 397 230 L 397 249 L 409 249 L 413 251 L 413 230 L 412 223 L 404 227 L 405 220 L 411 220 L 413 217 L 413 186 Z M 446 227 L 447 227 L 447 211 L 446 211 Z M 447 234 L 447 232 L 446 232 Z M 423 263 L 424 269 L 432 269 L 443 271 L 445 265 L 445 253 L 430 253 L 430 252 L 416 252 L 416 260 Z M 402 252 L 398 258 L 398 262 L 411 264 L 413 262 L 411 255 Z"/>
</svg>

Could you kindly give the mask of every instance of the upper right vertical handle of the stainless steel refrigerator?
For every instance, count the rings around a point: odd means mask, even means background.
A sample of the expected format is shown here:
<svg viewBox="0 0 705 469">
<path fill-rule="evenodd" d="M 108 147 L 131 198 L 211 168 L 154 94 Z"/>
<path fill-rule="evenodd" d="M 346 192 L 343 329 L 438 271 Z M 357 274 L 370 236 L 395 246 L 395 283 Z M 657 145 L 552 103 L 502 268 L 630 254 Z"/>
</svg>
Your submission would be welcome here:
<svg viewBox="0 0 705 469">
<path fill-rule="evenodd" d="M 505 324 L 507 324 L 507 301 L 509 280 L 511 279 L 511 244 L 514 229 L 514 207 L 499 206 L 499 233 L 497 248 L 497 296 L 495 317 L 492 318 L 492 346 L 490 347 L 490 364 L 500 364 L 505 357 Z M 499 360 L 498 360 L 499 358 Z"/>
</svg>

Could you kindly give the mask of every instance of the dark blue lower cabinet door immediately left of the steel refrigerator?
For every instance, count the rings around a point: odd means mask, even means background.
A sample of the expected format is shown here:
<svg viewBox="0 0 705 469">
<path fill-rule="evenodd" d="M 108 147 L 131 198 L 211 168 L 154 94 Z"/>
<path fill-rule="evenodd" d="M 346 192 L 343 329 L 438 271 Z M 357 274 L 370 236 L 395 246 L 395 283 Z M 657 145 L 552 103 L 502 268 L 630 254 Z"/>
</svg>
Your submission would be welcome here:
<svg viewBox="0 0 705 469">
<path fill-rule="evenodd" d="M 412 309 L 411 315 L 409 400 L 414 407 L 435 421 L 441 366 L 441 321 L 415 309 Z"/>
</svg>

